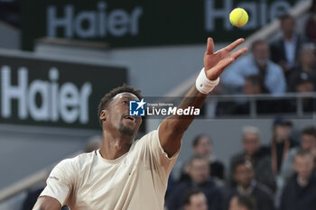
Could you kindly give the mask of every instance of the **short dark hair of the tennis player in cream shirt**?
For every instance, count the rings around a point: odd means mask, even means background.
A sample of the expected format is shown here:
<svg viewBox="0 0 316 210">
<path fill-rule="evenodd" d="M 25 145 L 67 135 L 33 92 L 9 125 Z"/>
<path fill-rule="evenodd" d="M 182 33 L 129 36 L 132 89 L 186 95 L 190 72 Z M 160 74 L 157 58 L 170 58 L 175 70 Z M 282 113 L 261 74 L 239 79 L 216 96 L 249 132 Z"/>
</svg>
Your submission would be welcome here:
<svg viewBox="0 0 316 210">
<path fill-rule="evenodd" d="M 135 89 L 134 87 L 129 87 L 126 84 L 123 84 L 122 87 L 116 87 L 112 89 L 109 93 L 107 93 L 105 96 L 101 98 L 100 103 L 98 104 L 98 122 L 100 123 L 102 127 L 102 121 L 100 120 L 100 114 L 102 110 L 107 109 L 107 105 L 111 102 L 114 96 L 120 93 L 128 92 L 131 94 L 134 94 L 138 97 L 138 99 L 142 99 L 143 96 L 141 96 L 141 90 Z"/>
</svg>

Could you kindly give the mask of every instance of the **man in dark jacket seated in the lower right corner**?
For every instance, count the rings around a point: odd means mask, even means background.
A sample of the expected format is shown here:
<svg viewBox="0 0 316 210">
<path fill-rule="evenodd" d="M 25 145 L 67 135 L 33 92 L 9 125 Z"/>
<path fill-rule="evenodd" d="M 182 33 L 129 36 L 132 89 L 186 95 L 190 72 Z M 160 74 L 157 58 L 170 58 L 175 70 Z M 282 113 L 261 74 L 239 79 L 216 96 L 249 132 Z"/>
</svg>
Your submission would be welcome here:
<svg viewBox="0 0 316 210">
<path fill-rule="evenodd" d="M 314 157 L 309 151 L 298 151 L 293 168 L 296 174 L 283 189 L 280 210 L 314 210 L 316 206 L 316 177 Z"/>
</svg>

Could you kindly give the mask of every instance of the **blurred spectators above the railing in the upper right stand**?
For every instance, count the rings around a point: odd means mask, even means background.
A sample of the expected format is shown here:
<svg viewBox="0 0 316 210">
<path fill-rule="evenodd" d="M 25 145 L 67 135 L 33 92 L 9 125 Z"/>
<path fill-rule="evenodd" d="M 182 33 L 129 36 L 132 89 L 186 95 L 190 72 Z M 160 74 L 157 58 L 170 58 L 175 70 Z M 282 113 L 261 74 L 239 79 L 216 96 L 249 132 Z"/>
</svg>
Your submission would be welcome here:
<svg viewBox="0 0 316 210">
<path fill-rule="evenodd" d="M 231 65 L 223 77 L 223 86 L 231 87 L 237 94 L 268 93 L 282 96 L 286 92 L 315 91 L 314 2 L 305 34 L 296 32 L 295 20 L 290 14 L 281 16 L 282 36 L 271 44 L 264 40 L 254 41 L 249 55 Z"/>
</svg>

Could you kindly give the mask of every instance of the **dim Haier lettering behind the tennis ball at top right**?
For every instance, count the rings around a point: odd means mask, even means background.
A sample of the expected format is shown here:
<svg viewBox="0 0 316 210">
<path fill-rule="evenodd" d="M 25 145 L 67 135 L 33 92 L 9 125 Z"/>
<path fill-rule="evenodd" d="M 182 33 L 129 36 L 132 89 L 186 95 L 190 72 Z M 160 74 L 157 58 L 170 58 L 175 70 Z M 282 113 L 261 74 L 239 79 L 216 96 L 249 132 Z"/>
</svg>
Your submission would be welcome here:
<svg viewBox="0 0 316 210">
<path fill-rule="evenodd" d="M 297 0 L 296 2 L 298 2 Z M 215 8 L 215 0 L 204 0 L 204 12 L 205 12 L 205 30 L 207 32 L 214 32 L 216 30 L 215 21 L 221 19 L 225 30 L 230 31 L 233 26 L 229 23 L 228 14 L 235 7 L 241 7 L 246 9 L 249 13 L 249 22 L 246 23 L 242 30 L 257 29 L 264 26 L 269 21 L 279 17 L 284 12 L 291 8 L 290 3 L 285 0 L 275 1 L 268 6 L 266 0 L 252 1 L 252 2 L 240 2 L 234 5 L 234 0 L 223 0 L 222 8 Z M 268 14 L 268 15 L 267 15 Z M 269 19 L 267 19 L 269 18 Z"/>
</svg>

